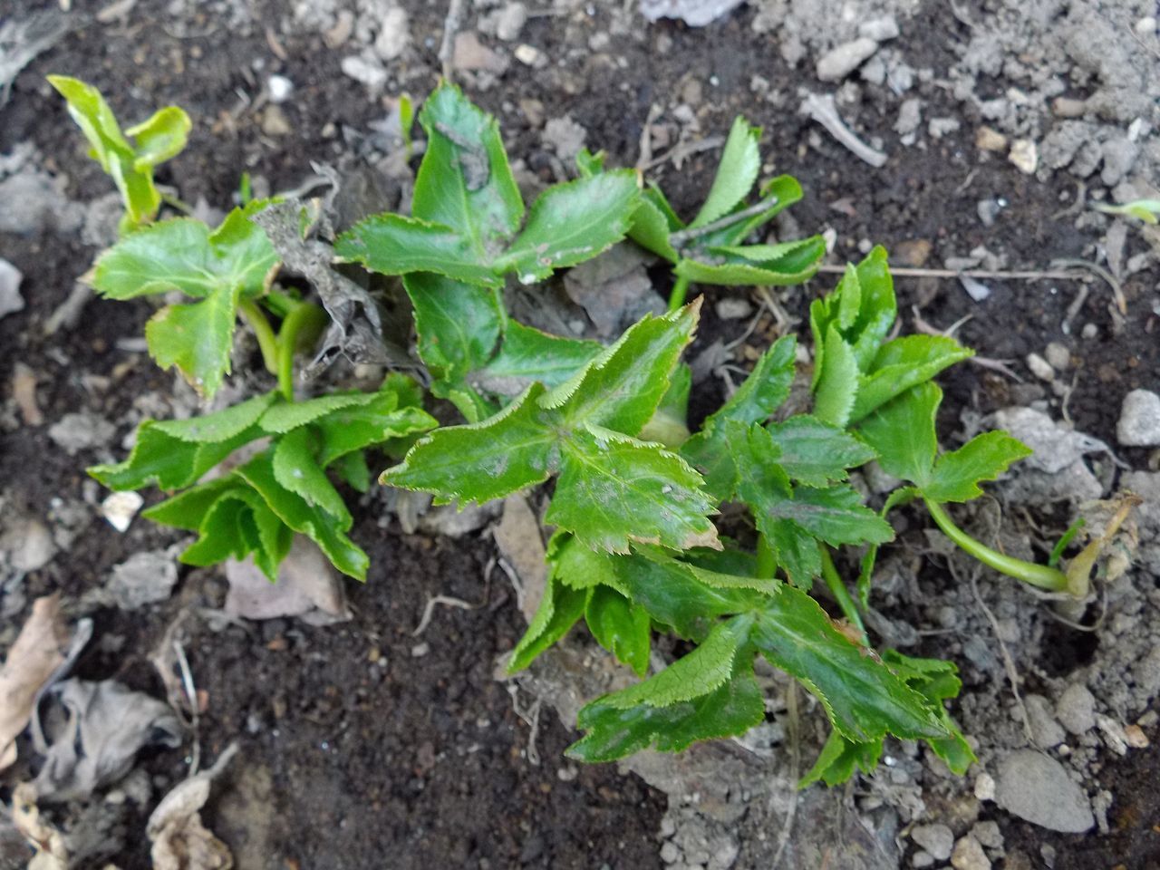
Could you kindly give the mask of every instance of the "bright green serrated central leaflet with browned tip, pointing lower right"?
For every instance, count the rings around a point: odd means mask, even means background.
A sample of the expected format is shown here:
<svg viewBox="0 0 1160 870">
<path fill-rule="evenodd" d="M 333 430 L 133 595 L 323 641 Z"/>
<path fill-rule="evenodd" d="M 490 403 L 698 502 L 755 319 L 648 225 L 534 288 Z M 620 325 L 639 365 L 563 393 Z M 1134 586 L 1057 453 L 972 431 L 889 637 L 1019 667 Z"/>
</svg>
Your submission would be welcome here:
<svg viewBox="0 0 1160 870">
<path fill-rule="evenodd" d="M 717 530 L 702 478 L 676 454 L 589 427 L 563 447 L 560 478 L 545 522 L 588 546 L 626 553 L 630 542 L 675 550 L 711 546 Z"/>
</svg>

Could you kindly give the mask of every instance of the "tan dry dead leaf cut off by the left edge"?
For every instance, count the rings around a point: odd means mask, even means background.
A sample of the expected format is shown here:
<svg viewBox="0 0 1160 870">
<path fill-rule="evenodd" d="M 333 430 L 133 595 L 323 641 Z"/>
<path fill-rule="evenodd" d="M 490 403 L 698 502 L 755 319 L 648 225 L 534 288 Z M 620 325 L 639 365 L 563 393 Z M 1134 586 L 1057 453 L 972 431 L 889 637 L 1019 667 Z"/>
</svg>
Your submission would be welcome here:
<svg viewBox="0 0 1160 870">
<path fill-rule="evenodd" d="M 0 770 L 16 761 L 16 737 L 28 726 L 36 696 L 64 662 L 67 646 L 60 596 L 37 599 L 0 669 Z"/>
</svg>

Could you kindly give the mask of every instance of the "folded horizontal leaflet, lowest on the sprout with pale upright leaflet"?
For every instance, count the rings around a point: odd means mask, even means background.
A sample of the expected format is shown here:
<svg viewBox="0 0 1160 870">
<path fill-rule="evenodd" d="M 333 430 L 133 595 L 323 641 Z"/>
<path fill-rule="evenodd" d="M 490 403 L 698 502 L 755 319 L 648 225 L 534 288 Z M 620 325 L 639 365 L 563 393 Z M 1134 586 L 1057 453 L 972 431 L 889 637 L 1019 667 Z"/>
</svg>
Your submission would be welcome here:
<svg viewBox="0 0 1160 870">
<path fill-rule="evenodd" d="M 786 287 L 811 278 L 825 253 L 820 235 L 780 245 L 704 247 L 697 254 L 704 259 L 682 259 L 673 271 L 698 284 Z"/>
</svg>

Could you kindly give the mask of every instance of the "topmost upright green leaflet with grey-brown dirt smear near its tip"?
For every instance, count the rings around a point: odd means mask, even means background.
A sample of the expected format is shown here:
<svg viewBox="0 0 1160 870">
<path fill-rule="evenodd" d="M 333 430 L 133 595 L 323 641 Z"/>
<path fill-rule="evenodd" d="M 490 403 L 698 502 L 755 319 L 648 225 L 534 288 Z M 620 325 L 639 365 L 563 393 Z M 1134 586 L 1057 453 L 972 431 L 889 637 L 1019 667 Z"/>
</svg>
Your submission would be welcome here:
<svg viewBox="0 0 1160 870">
<path fill-rule="evenodd" d="M 427 152 L 415 177 L 412 213 L 451 227 L 467 241 L 474 260 L 485 262 L 523 218 L 499 124 L 449 82 L 427 97 L 419 122 L 427 132 Z"/>
</svg>

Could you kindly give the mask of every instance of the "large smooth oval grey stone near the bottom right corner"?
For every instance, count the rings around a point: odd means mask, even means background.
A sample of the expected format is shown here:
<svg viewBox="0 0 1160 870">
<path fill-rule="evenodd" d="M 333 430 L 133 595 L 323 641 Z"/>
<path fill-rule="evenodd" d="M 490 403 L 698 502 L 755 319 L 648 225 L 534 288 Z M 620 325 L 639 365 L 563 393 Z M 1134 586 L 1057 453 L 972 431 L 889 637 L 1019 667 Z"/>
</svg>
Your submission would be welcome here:
<svg viewBox="0 0 1160 870">
<path fill-rule="evenodd" d="M 995 803 L 1049 831 L 1081 834 L 1095 826 L 1083 790 L 1063 764 L 1035 749 L 1017 749 L 1000 762 Z"/>
</svg>

